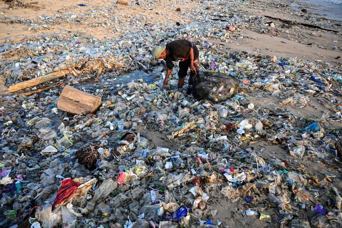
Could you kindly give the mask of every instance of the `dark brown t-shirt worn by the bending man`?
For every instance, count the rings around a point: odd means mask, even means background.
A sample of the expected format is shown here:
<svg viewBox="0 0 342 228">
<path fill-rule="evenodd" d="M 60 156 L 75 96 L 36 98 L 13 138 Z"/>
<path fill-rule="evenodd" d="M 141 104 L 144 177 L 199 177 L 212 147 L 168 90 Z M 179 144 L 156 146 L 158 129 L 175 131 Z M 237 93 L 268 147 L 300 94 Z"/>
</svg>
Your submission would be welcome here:
<svg viewBox="0 0 342 228">
<path fill-rule="evenodd" d="M 168 69 L 174 67 L 173 62 L 190 61 L 190 50 L 194 49 L 194 59 L 198 58 L 198 49 L 195 44 L 188 40 L 174 40 L 166 44 L 166 66 Z"/>
</svg>

